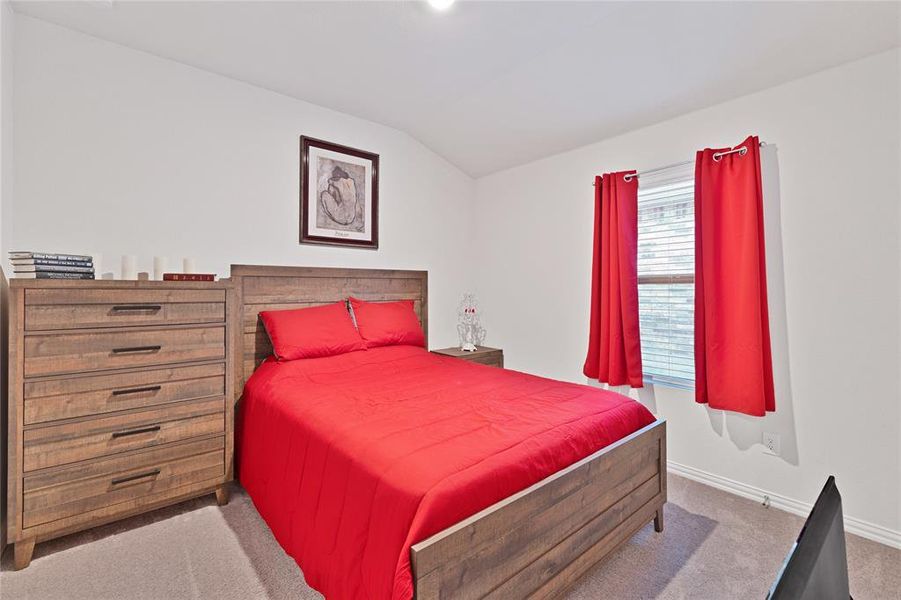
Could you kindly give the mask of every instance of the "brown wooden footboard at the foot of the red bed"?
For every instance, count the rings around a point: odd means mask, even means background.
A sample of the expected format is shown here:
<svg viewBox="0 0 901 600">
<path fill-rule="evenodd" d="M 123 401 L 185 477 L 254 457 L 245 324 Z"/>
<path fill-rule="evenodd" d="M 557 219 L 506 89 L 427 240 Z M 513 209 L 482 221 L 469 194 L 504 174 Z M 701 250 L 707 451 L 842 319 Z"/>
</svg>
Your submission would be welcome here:
<svg viewBox="0 0 901 600">
<path fill-rule="evenodd" d="M 665 502 L 658 420 L 413 546 L 416 598 L 554 596 L 652 519 L 660 531 Z"/>
</svg>

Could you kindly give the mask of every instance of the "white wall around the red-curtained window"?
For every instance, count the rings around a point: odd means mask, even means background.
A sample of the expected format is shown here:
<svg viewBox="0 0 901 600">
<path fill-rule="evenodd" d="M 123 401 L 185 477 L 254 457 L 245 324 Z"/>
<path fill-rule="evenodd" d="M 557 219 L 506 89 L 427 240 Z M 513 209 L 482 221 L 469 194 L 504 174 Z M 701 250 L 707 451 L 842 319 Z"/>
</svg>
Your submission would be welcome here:
<svg viewBox="0 0 901 600">
<path fill-rule="evenodd" d="M 668 420 L 671 461 L 802 502 L 834 473 L 846 515 L 901 539 L 898 63 L 880 54 L 479 179 L 489 343 L 510 368 L 584 381 L 593 176 L 758 134 L 778 154 L 765 216 L 776 413 L 724 414 L 665 388 L 642 398 Z M 781 434 L 782 457 L 763 454 L 763 431 Z"/>
</svg>

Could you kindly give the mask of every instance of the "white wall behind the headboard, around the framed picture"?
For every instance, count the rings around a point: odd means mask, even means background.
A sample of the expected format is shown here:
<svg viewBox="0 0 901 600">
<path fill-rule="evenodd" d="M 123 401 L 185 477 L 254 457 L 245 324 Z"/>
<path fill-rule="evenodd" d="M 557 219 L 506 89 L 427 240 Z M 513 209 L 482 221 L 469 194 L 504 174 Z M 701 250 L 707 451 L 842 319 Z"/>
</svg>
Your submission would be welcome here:
<svg viewBox="0 0 901 600">
<path fill-rule="evenodd" d="M 361 91 L 365 93 L 365 91 Z M 430 343 L 471 283 L 473 180 L 397 130 L 19 16 L 9 249 L 429 270 Z M 380 249 L 298 244 L 299 136 L 380 155 Z M 4 263 L 5 264 L 5 263 Z"/>
</svg>

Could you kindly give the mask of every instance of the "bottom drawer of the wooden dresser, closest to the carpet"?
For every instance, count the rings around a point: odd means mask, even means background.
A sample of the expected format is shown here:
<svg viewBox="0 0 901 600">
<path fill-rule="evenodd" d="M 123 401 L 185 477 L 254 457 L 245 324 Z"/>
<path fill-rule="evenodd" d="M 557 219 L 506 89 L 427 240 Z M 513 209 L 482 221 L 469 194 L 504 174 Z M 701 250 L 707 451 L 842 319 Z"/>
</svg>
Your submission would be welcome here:
<svg viewBox="0 0 901 600">
<path fill-rule="evenodd" d="M 178 496 L 198 483 L 212 486 L 224 472 L 224 438 L 218 437 L 26 475 L 23 526 L 115 516 L 116 506 L 126 513 L 141 503 Z M 105 507 L 111 509 L 98 515 Z"/>
</svg>

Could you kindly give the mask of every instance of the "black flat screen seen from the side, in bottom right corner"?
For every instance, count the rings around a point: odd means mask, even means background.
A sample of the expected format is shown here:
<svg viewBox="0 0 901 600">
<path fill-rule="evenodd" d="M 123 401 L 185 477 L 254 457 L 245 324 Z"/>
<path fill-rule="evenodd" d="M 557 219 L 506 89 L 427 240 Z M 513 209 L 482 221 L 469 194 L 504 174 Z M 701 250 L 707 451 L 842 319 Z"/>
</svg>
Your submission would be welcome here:
<svg viewBox="0 0 901 600">
<path fill-rule="evenodd" d="M 767 598 L 848 600 L 848 557 L 842 497 L 830 476 L 789 551 Z"/>
</svg>

